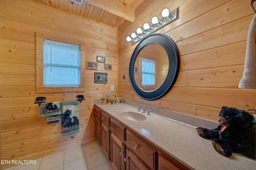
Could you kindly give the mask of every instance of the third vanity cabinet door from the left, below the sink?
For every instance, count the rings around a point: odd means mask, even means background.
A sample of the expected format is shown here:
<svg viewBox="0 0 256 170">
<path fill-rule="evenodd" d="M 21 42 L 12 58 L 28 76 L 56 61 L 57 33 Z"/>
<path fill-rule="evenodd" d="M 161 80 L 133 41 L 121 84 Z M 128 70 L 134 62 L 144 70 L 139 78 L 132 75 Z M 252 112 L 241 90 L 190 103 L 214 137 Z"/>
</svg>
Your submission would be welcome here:
<svg viewBox="0 0 256 170">
<path fill-rule="evenodd" d="M 112 168 L 115 170 L 124 170 L 125 145 L 114 133 L 111 132 L 110 136 L 110 162 Z"/>
</svg>

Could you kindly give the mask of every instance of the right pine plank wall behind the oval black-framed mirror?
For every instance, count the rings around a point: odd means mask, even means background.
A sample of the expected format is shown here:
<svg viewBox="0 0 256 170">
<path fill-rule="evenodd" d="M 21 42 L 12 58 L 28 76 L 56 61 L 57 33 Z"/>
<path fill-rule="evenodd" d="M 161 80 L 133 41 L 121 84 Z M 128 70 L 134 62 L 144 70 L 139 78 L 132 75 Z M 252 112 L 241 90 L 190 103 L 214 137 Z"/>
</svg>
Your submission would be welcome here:
<svg viewBox="0 0 256 170">
<path fill-rule="evenodd" d="M 126 37 L 145 22 L 150 23 L 153 16 L 160 18 L 164 8 L 177 8 L 178 19 L 156 32 L 165 33 L 176 42 L 180 72 L 166 96 L 146 101 L 130 86 L 130 57 L 138 43 L 130 45 Z M 222 106 L 256 108 L 256 90 L 238 88 L 244 71 L 248 27 L 254 16 L 250 0 L 158 0 L 140 14 L 134 23 L 126 22 L 118 28 L 119 97 L 213 121 Z"/>
</svg>

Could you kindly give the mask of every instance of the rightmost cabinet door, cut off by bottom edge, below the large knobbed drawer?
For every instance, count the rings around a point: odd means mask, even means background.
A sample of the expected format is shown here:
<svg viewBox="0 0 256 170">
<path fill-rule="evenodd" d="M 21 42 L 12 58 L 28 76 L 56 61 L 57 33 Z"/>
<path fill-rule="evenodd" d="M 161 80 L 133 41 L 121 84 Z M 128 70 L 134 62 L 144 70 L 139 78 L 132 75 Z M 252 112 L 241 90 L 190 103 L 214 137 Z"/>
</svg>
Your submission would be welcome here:
<svg viewBox="0 0 256 170">
<path fill-rule="evenodd" d="M 126 149 L 126 170 L 149 170 L 129 149 Z"/>
</svg>

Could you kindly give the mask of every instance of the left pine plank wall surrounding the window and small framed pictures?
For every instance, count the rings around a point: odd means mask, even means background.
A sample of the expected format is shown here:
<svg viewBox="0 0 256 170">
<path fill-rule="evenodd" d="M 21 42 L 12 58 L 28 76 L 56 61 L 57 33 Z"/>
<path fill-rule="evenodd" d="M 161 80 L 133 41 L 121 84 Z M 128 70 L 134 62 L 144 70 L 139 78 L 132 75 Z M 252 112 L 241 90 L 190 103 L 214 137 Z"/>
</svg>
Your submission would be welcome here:
<svg viewBox="0 0 256 170">
<path fill-rule="evenodd" d="M 117 29 L 37 0 L 1 0 L 0 24 L 2 160 L 35 160 L 95 141 L 94 99 L 104 92 L 116 95 Z M 104 70 L 104 63 L 98 63 L 98 70 L 85 70 L 85 92 L 36 93 L 36 32 L 40 31 L 66 39 L 75 36 L 86 47 L 86 61 L 106 57 L 112 70 Z M 94 84 L 96 71 L 108 73 L 108 84 Z M 37 96 L 62 102 L 76 100 L 77 94 L 85 98 L 79 103 L 79 133 L 62 136 L 60 122 L 47 125 L 45 117 L 38 117 Z"/>
</svg>

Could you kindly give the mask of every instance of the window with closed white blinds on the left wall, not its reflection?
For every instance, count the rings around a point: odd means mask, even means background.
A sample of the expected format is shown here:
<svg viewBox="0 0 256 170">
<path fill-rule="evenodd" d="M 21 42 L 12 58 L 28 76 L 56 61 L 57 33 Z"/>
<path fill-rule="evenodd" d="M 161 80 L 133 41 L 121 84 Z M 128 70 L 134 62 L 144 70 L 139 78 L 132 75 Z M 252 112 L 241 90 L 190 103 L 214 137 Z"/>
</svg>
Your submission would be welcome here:
<svg viewBox="0 0 256 170">
<path fill-rule="evenodd" d="M 80 86 L 80 46 L 44 39 L 44 87 Z"/>
</svg>

